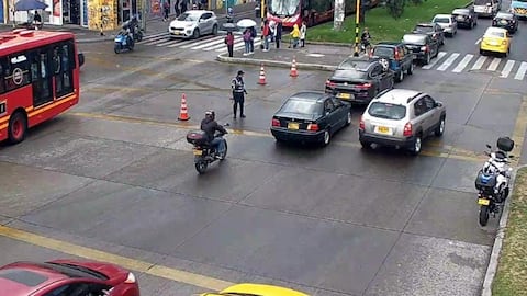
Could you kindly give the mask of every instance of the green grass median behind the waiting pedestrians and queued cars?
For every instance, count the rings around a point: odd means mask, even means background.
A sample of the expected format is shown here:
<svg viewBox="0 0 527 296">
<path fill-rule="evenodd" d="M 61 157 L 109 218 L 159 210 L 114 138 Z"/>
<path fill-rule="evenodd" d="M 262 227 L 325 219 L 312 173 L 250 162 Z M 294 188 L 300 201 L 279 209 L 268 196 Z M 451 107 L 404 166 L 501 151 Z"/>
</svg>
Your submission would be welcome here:
<svg viewBox="0 0 527 296">
<path fill-rule="evenodd" d="M 434 15 L 451 13 L 455 8 L 464 7 L 469 2 L 469 0 L 426 0 L 418 5 L 407 3 L 403 15 L 397 20 L 388 14 L 386 8 L 378 7 L 366 12 L 365 26 L 370 30 L 373 43 L 400 41 L 416 23 L 429 22 Z M 306 38 L 312 42 L 355 43 L 355 15 L 348 15 L 344 23 L 345 31 L 341 32 L 333 30 L 333 22 L 309 27 Z"/>
</svg>

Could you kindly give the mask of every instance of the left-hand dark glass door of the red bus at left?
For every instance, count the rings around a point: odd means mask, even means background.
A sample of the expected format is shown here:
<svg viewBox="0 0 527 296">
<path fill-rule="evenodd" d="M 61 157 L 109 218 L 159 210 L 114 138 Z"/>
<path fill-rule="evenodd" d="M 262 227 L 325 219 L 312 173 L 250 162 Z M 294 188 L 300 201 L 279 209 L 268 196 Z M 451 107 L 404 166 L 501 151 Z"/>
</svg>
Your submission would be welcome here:
<svg viewBox="0 0 527 296">
<path fill-rule="evenodd" d="M 33 106 L 40 106 L 53 101 L 53 84 L 51 71 L 51 57 L 48 48 L 30 53 L 31 81 L 33 86 Z"/>
</svg>

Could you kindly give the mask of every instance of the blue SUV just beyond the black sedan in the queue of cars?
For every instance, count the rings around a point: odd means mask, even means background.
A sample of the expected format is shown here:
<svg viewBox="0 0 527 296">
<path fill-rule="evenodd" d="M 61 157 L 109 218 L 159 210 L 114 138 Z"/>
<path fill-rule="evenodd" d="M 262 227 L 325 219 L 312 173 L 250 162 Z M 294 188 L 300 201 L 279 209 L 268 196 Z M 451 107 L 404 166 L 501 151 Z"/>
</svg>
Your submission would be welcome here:
<svg viewBox="0 0 527 296">
<path fill-rule="evenodd" d="M 405 72 L 414 72 L 414 55 L 402 42 L 380 42 L 371 50 L 371 57 L 394 71 L 396 82 L 403 81 Z"/>
</svg>

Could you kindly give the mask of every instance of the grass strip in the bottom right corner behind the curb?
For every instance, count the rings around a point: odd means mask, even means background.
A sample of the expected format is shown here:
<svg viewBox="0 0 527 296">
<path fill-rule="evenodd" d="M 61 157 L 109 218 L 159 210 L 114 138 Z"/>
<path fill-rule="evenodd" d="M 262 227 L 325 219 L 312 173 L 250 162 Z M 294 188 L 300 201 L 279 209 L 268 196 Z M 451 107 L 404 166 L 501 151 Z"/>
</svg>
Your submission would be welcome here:
<svg viewBox="0 0 527 296">
<path fill-rule="evenodd" d="M 518 170 L 516 175 L 492 295 L 527 295 L 527 168 Z"/>
</svg>

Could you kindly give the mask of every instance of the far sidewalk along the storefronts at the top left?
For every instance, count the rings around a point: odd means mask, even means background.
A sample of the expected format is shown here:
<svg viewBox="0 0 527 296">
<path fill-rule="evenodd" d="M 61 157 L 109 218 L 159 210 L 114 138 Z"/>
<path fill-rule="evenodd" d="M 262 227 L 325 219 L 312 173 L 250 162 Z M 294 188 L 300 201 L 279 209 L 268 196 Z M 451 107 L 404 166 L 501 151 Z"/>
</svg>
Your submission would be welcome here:
<svg viewBox="0 0 527 296">
<path fill-rule="evenodd" d="M 246 4 L 240 4 L 235 7 L 235 18 L 236 19 L 255 19 L 255 5 L 256 2 L 249 2 Z M 225 11 L 224 10 L 214 10 L 217 15 L 218 22 L 223 23 L 225 21 Z M 172 21 L 176 15 L 170 15 L 170 21 Z M 145 36 L 159 34 L 162 32 L 168 32 L 168 25 L 170 21 L 164 22 L 162 18 L 159 16 L 152 16 L 146 21 L 146 30 Z M 0 32 L 9 32 L 12 31 L 12 24 L 0 24 Z M 101 36 L 100 32 L 91 31 L 86 27 L 79 25 L 44 25 L 45 31 L 61 31 L 61 32 L 71 32 L 76 35 L 78 43 L 98 43 L 98 42 L 109 42 L 113 41 L 115 35 L 119 33 L 119 30 L 114 31 L 104 31 L 104 35 Z"/>
</svg>

